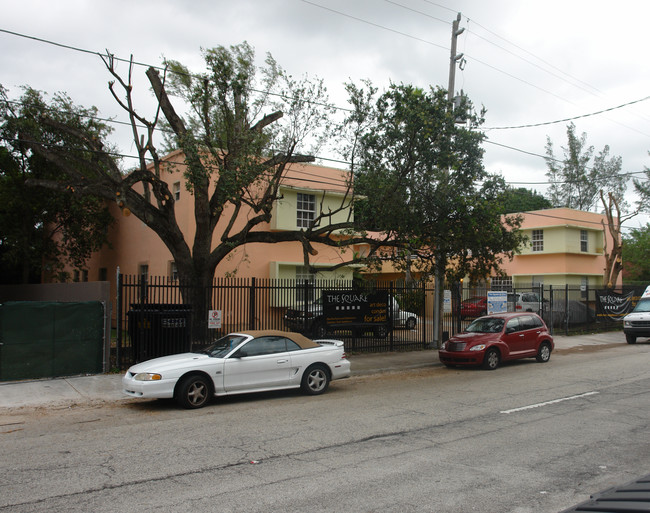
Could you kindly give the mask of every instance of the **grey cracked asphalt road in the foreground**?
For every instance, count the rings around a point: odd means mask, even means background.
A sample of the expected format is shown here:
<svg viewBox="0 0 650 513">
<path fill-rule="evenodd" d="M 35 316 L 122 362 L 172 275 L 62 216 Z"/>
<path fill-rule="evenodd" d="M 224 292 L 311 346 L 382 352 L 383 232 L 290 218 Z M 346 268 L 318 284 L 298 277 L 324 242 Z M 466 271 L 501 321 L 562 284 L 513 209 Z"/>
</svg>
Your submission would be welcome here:
<svg viewBox="0 0 650 513">
<path fill-rule="evenodd" d="M 650 345 L 240 396 L 17 410 L 0 512 L 555 512 L 650 470 Z"/>
</svg>

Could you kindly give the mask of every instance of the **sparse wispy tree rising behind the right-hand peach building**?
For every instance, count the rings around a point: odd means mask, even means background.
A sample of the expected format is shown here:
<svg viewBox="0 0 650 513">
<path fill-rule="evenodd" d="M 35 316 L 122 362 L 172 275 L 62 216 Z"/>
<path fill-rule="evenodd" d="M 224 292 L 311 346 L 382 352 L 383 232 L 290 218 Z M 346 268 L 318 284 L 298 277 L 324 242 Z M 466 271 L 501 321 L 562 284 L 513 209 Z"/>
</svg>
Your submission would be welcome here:
<svg viewBox="0 0 650 513">
<path fill-rule="evenodd" d="M 627 208 L 627 177 L 621 174 L 621 157 L 609 157 L 609 146 L 594 156 L 587 146 L 587 134 L 576 135 L 573 123 L 567 126 L 567 146 L 563 158 L 556 159 L 553 142 L 546 139 L 546 165 L 551 186 L 548 198 L 556 207 L 590 211 L 598 205 L 600 191 L 611 193 L 622 210 Z M 592 160 L 593 159 L 593 160 Z"/>
</svg>

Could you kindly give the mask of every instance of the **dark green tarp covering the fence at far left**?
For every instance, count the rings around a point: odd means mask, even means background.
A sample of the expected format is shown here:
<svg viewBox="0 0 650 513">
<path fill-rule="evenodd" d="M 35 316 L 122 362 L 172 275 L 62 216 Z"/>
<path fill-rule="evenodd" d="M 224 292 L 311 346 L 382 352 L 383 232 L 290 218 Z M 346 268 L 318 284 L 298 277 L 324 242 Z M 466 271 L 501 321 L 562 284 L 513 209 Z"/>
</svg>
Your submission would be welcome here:
<svg viewBox="0 0 650 513">
<path fill-rule="evenodd" d="M 101 373 L 103 343 L 99 301 L 0 305 L 0 381 Z"/>
</svg>

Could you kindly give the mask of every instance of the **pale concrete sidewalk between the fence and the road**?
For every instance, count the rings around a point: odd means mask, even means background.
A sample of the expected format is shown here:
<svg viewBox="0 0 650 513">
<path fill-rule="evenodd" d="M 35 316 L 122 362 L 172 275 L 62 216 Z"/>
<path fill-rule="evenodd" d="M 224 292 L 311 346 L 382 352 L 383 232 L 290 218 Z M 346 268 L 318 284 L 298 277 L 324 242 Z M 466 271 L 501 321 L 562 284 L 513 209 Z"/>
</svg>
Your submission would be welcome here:
<svg viewBox="0 0 650 513">
<path fill-rule="evenodd" d="M 556 350 L 626 343 L 622 331 L 574 337 L 559 335 L 553 339 Z M 349 358 L 353 377 L 441 365 L 436 350 L 356 354 Z M 0 382 L 0 413 L 2 409 L 8 408 L 65 407 L 93 402 L 133 400 L 122 395 L 121 379 L 121 374 L 97 374 Z"/>
</svg>

